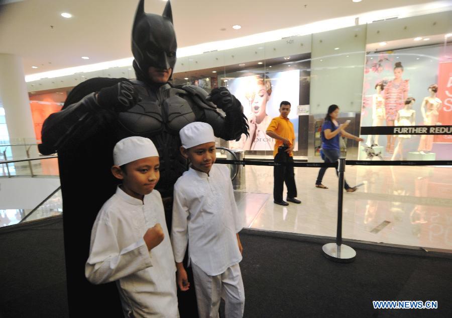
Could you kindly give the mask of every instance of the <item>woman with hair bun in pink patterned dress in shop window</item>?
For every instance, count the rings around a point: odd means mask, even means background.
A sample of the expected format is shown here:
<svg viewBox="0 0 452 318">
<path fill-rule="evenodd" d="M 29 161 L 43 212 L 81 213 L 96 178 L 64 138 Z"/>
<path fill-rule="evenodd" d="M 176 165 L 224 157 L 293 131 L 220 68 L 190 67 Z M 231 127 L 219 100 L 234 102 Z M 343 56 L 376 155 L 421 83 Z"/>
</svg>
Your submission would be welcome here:
<svg viewBox="0 0 452 318">
<path fill-rule="evenodd" d="M 389 81 L 385 87 L 386 126 L 394 126 L 397 112 L 404 107 L 403 102 L 406 101 L 408 97 L 410 87 L 408 80 L 402 79 L 402 74 L 402 63 L 395 63 L 394 80 Z M 387 138 L 386 151 L 392 152 L 394 149 L 395 136 L 387 135 Z"/>
</svg>

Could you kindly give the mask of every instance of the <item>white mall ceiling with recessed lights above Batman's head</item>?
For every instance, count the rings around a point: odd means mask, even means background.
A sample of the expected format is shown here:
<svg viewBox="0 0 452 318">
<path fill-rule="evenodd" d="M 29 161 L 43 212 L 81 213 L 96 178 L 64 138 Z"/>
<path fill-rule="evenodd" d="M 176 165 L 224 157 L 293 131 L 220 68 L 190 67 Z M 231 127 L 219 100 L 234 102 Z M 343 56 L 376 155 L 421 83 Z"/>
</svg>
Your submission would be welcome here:
<svg viewBox="0 0 452 318">
<path fill-rule="evenodd" d="M 0 0 L 0 53 L 23 57 L 25 74 L 131 57 L 130 36 L 138 0 Z M 383 9 L 415 7 L 425 0 L 173 0 L 178 47 L 233 39 Z M 166 2 L 146 0 L 147 13 L 161 14 Z M 430 7 L 427 7 L 430 6 Z M 406 10 L 405 10 L 406 11 Z M 60 16 L 68 12 L 71 19 Z M 389 10 L 386 18 L 400 10 Z M 240 30 L 233 25 L 242 26 Z M 224 29 L 224 30 L 222 30 Z M 82 60 L 81 56 L 89 56 Z M 38 66 L 33 69 L 31 66 Z M 1 75 L 1 74 L 0 74 Z"/>
</svg>

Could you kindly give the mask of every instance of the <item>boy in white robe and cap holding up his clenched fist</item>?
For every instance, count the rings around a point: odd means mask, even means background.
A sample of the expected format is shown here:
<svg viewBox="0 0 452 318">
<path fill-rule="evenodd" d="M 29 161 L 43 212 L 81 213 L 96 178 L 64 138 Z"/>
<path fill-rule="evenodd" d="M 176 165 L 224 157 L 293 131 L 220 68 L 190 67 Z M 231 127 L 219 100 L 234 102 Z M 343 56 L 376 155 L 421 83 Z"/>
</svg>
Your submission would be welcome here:
<svg viewBox="0 0 452 318">
<path fill-rule="evenodd" d="M 119 141 L 112 174 L 122 180 L 94 222 L 85 276 L 116 281 L 126 317 L 178 317 L 176 268 L 165 222 L 159 155 L 144 137 Z"/>
</svg>

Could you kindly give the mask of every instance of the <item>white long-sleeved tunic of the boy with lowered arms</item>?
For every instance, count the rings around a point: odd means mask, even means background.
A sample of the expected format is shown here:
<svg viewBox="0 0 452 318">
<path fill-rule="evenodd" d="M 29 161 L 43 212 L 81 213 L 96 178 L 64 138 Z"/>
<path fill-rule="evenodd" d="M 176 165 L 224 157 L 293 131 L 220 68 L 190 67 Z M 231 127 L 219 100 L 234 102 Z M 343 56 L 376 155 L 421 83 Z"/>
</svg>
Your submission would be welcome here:
<svg viewBox="0 0 452 318">
<path fill-rule="evenodd" d="M 236 233 L 244 221 L 230 178 L 227 167 L 214 164 L 208 175 L 190 168 L 174 185 L 174 259 L 183 261 L 188 241 L 190 260 L 210 276 L 242 260 Z"/>
</svg>

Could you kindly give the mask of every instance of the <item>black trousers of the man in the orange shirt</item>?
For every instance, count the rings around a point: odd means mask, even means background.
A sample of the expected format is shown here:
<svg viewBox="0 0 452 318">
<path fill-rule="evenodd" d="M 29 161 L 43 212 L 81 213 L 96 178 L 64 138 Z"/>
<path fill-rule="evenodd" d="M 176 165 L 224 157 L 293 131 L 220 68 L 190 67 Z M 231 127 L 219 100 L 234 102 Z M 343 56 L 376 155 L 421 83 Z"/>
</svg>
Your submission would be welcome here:
<svg viewBox="0 0 452 318">
<path fill-rule="evenodd" d="M 275 156 L 275 163 L 286 162 L 293 163 L 293 157 L 287 152 L 278 152 Z M 273 200 L 281 202 L 283 200 L 284 182 L 287 187 L 287 197 L 295 198 L 297 196 L 297 187 L 295 185 L 295 174 L 293 166 L 274 166 L 273 168 Z"/>
</svg>

